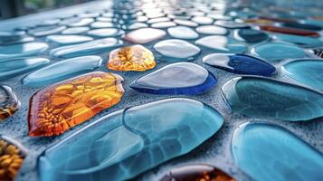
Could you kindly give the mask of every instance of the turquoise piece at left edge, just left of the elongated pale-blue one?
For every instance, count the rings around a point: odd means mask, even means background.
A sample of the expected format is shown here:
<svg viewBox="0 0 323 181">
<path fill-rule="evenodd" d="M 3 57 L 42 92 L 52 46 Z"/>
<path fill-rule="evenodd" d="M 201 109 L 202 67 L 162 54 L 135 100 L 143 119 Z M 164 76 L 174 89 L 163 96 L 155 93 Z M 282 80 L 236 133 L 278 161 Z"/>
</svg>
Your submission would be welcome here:
<svg viewBox="0 0 323 181">
<path fill-rule="evenodd" d="M 8 59 L 0 61 L 0 81 L 41 68 L 50 61 L 44 58 Z"/>
</svg>

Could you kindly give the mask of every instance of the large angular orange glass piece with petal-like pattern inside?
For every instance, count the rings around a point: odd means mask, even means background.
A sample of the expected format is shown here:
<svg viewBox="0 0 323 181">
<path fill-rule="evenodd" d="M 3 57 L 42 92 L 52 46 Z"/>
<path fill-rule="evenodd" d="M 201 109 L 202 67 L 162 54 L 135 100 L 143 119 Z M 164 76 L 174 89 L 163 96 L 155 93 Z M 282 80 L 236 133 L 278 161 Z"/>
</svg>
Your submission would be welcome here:
<svg viewBox="0 0 323 181">
<path fill-rule="evenodd" d="M 29 136 L 56 136 L 119 102 L 122 77 L 101 71 L 39 90 L 30 100 Z"/>
</svg>

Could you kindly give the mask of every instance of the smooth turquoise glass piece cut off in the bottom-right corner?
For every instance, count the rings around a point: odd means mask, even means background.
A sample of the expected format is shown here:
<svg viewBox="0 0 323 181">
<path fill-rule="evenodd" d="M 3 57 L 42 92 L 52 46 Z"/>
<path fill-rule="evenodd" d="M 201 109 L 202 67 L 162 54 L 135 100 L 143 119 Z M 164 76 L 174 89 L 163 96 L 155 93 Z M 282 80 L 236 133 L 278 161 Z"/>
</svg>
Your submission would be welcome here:
<svg viewBox="0 0 323 181">
<path fill-rule="evenodd" d="M 323 180 L 323 155 L 287 129 L 247 122 L 234 131 L 234 162 L 254 180 Z"/>
</svg>

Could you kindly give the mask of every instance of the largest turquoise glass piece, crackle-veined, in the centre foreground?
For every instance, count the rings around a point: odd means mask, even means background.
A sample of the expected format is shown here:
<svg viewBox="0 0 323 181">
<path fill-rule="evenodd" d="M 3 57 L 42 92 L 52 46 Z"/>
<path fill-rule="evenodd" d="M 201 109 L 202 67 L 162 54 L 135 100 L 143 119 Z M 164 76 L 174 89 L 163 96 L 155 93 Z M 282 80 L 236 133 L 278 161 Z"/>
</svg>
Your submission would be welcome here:
<svg viewBox="0 0 323 181">
<path fill-rule="evenodd" d="M 91 122 L 38 159 L 41 181 L 128 180 L 184 155 L 223 125 L 223 116 L 198 100 L 158 100 Z"/>
</svg>

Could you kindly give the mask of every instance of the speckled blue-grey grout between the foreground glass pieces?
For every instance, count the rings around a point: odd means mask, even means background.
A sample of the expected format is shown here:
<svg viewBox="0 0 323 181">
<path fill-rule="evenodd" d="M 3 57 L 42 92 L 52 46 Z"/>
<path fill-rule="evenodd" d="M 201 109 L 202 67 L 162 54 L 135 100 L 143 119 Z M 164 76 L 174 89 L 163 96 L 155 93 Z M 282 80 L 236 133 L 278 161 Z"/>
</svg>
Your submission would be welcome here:
<svg viewBox="0 0 323 181">
<path fill-rule="evenodd" d="M 165 29 L 166 30 L 166 29 Z M 203 37 L 203 36 L 200 36 Z M 153 46 L 155 43 L 171 39 L 168 34 L 154 41 L 153 43 L 145 44 L 150 51 L 152 51 L 156 55 L 157 66 L 153 70 L 145 71 L 145 72 L 123 72 L 123 71 L 109 71 L 106 68 L 106 63 L 108 61 L 109 52 L 101 52 L 100 57 L 103 59 L 102 66 L 100 69 L 96 71 L 106 71 L 106 72 L 114 72 L 119 74 L 124 78 L 123 87 L 125 90 L 124 96 L 119 104 L 109 108 L 107 110 L 103 110 L 100 114 L 95 117 L 89 119 L 88 121 L 82 123 L 79 126 L 67 131 L 62 136 L 53 137 L 53 138 L 30 138 L 28 137 L 28 129 L 27 129 L 27 117 L 28 117 L 28 107 L 29 107 L 29 98 L 33 95 L 33 93 L 40 88 L 29 88 L 25 87 L 21 83 L 21 79 L 26 75 L 15 77 L 14 79 L 10 79 L 7 81 L 2 81 L 2 84 L 8 85 L 13 88 L 16 93 L 18 99 L 21 101 L 22 105 L 20 109 L 10 118 L 5 119 L 5 121 L 0 122 L 0 130 L 1 134 L 10 136 L 20 143 L 24 145 L 25 148 L 28 149 L 28 155 L 24 160 L 24 165 L 20 170 L 19 175 L 16 177 L 16 180 L 19 181 L 36 181 L 37 180 L 37 172 L 36 172 L 36 164 L 37 157 L 39 157 L 43 150 L 49 148 L 51 145 L 59 142 L 63 138 L 66 138 L 73 131 L 77 129 L 81 129 L 85 125 L 102 117 L 103 115 L 107 115 L 116 110 L 122 110 L 131 106 L 141 105 L 147 102 L 151 102 L 154 100 L 162 100 L 171 97 L 185 97 L 194 100 L 200 100 L 207 105 L 210 105 L 214 109 L 218 110 L 224 117 L 223 128 L 220 129 L 212 138 L 209 138 L 205 141 L 201 146 L 195 148 L 192 152 L 186 154 L 182 157 L 176 157 L 166 163 L 155 167 L 146 173 L 134 178 L 134 180 L 142 180 L 142 181 L 151 181 L 157 180 L 170 169 L 177 166 L 183 166 L 186 164 L 195 164 L 195 163 L 205 163 L 210 164 L 215 167 L 219 167 L 223 169 L 223 171 L 235 177 L 237 180 L 246 181 L 252 180 L 251 177 L 247 176 L 236 167 L 233 163 L 233 157 L 231 155 L 230 144 L 233 136 L 233 130 L 236 129 L 239 125 L 247 121 L 254 120 L 263 120 L 278 124 L 286 129 L 291 130 L 300 138 L 303 138 L 305 141 L 309 142 L 314 148 L 317 148 L 318 151 L 323 152 L 323 119 L 315 119 L 310 121 L 300 121 L 300 122 L 285 122 L 276 119 L 269 118 L 247 118 L 240 114 L 233 113 L 230 108 L 225 104 L 222 95 L 221 95 L 221 87 L 226 81 L 231 80 L 234 77 L 238 77 L 239 75 L 230 73 L 227 71 L 223 71 L 220 69 L 215 69 L 211 66 L 205 65 L 202 62 L 202 59 L 205 55 L 212 53 L 212 50 L 208 50 L 205 48 L 201 48 L 202 52 L 195 57 L 195 60 L 192 61 L 198 65 L 203 66 L 206 70 L 214 73 L 214 76 L 218 79 L 218 83 L 216 86 L 204 94 L 196 95 L 196 96 L 171 96 L 171 95 L 153 95 L 153 94 L 145 94 L 140 93 L 135 90 L 129 88 L 129 84 L 132 81 L 138 79 L 142 75 L 146 75 L 149 72 L 155 71 L 161 67 L 166 66 L 170 62 L 166 62 L 161 56 L 158 56 L 158 53 L 154 50 Z M 37 42 L 43 42 L 43 39 L 37 39 Z M 194 43 L 195 40 L 187 42 Z M 130 45 L 131 43 L 127 43 L 124 41 L 122 46 Z M 51 45 L 49 50 L 52 50 L 55 46 Z M 252 47 L 249 45 L 249 47 Z M 250 52 L 250 50 L 249 50 Z M 314 55 L 313 55 L 314 56 Z M 63 59 L 57 59 L 48 56 L 48 51 L 44 52 L 40 57 L 49 58 L 51 62 L 59 62 Z M 285 60 L 288 61 L 288 60 Z M 284 62 L 285 62 L 284 61 Z M 280 71 L 281 62 L 275 62 L 274 65 L 277 69 L 277 72 L 271 77 L 271 79 L 276 79 L 280 81 L 292 82 L 294 84 L 300 84 L 297 81 L 291 80 L 289 77 L 283 75 Z M 268 150 L 270 151 L 270 150 Z"/>
</svg>

